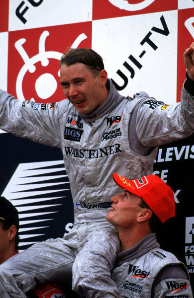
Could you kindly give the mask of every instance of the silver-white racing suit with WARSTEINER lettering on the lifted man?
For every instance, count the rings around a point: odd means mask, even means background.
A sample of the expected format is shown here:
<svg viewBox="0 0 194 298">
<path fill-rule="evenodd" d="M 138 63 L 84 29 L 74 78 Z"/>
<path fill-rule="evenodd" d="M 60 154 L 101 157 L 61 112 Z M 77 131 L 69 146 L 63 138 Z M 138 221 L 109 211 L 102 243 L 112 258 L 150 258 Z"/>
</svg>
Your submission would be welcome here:
<svg viewBox="0 0 194 298">
<path fill-rule="evenodd" d="M 150 175 L 157 146 L 194 132 L 194 97 L 157 102 L 145 92 L 121 96 L 109 80 L 109 95 L 88 117 L 68 100 L 40 104 L 0 91 L 0 128 L 48 146 L 61 147 L 74 202 L 74 226 L 63 239 L 37 243 L 0 267 L 0 297 L 25 298 L 36 283 L 70 279 L 85 297 L 120 297 L 110 270 L 120 250 L 117 232 L 105 220 L 110 198 L 120 193 L 112 173 L 134 179 Z M 75 258 L 76 257 L 76 258 Z"/>
</svg>

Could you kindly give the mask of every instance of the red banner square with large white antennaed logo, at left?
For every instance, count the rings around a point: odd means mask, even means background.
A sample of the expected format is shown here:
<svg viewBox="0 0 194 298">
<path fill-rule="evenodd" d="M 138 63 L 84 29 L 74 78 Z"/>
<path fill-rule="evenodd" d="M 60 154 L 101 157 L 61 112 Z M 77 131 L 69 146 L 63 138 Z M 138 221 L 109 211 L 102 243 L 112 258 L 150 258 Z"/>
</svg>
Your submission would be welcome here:
<svg viewBox="0 0 194 298">
<path fill-rule="evenodd" d="M 92 22 L 9 32 L 7 91 L 18 99 L 64 99 L 60 59 L 68 47 L 91 48 Z"/>
</svg>

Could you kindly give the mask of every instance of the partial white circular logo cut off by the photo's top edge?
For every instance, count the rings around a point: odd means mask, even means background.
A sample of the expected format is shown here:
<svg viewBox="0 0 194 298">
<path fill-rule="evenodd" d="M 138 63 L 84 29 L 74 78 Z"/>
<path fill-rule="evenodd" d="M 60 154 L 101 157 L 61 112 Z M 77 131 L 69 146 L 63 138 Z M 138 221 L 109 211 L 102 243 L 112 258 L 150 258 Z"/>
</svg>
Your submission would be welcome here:
<svg viewBox="0 0 194 298">
<path fill-rule="evenodd" d="M 143 9 L 153 3 L 155 0 L 109 0 L 113 5 L 120 9 L 135 11 Z"/>
</svg>

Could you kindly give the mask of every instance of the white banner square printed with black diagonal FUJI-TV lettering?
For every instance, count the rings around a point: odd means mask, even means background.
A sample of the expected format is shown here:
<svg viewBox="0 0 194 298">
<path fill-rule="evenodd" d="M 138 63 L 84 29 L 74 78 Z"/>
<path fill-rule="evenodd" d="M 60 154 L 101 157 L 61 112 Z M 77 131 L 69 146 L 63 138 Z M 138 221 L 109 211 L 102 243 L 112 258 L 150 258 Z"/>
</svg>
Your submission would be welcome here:
<svg viewBox="0 0 194 298">
<path fill-rule="evenodd" d="M 92 49 L 103 57 L 122 95 L 144 90 L 176 102 L 177 16 L 172 10 L 93 21 Z"/>
</svg>

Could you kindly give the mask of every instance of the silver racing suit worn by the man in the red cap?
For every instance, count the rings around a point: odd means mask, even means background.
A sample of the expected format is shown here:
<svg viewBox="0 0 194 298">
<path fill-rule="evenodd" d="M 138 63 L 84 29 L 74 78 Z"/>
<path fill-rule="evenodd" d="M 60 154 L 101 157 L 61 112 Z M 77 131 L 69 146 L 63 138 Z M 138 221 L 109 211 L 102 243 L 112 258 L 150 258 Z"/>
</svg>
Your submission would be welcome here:
<svg viewBox="0 0 194 298">
<path fill-rule="evenodd" d="M 112 278 L 122 298 L 193 298 L 185 264 L 160 248 L 155 233 L 118 255 Z"/>
</svg>

